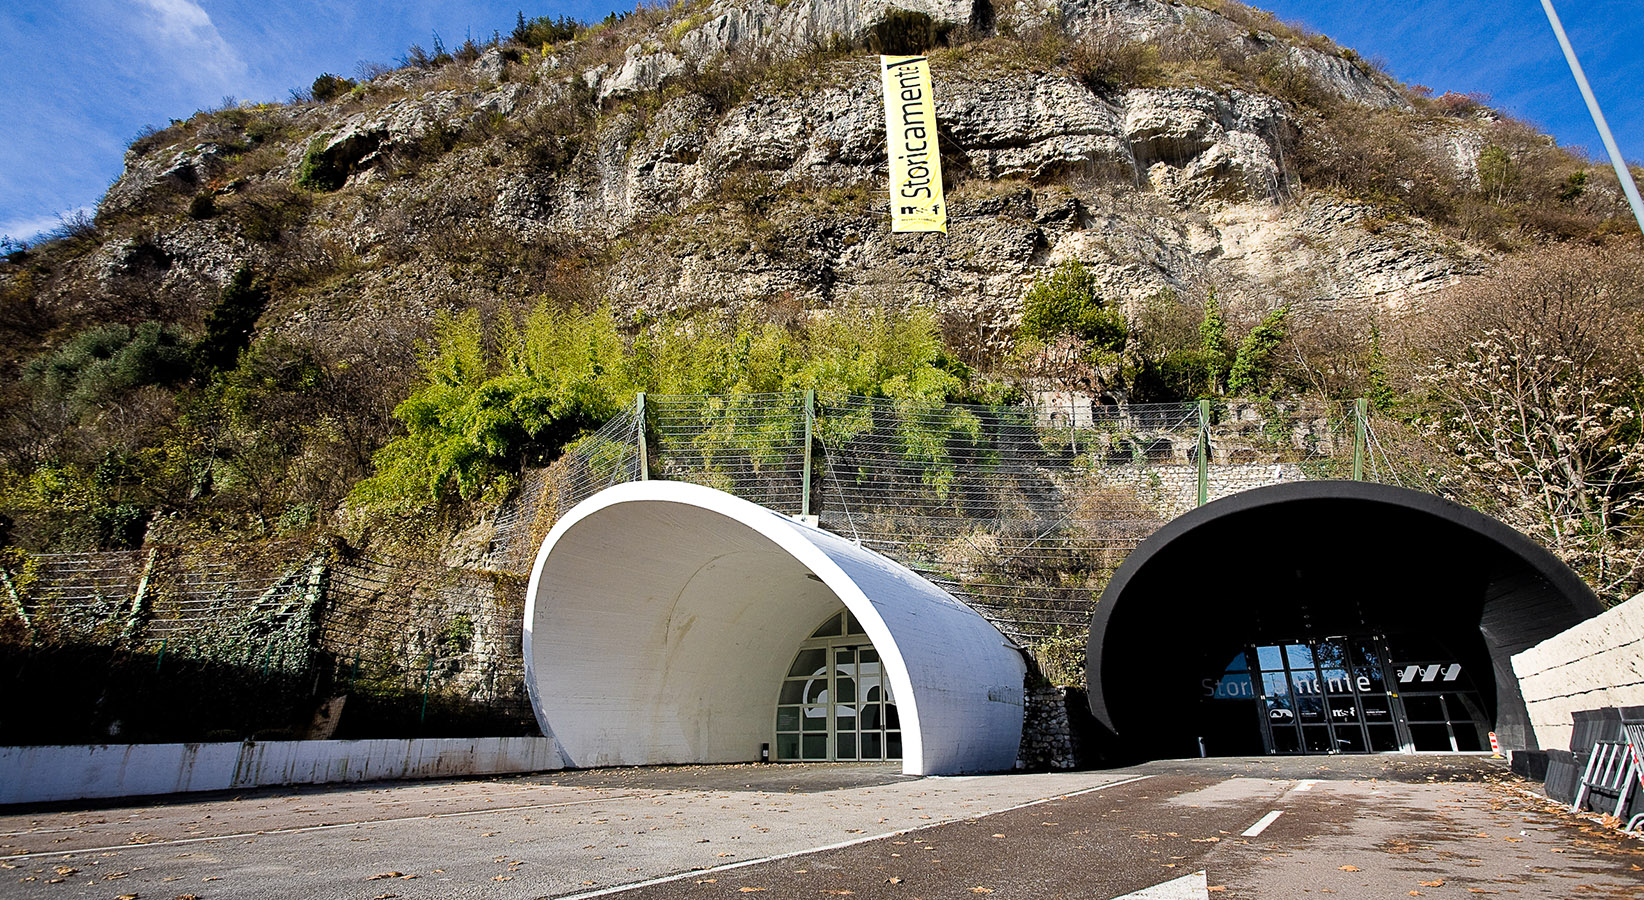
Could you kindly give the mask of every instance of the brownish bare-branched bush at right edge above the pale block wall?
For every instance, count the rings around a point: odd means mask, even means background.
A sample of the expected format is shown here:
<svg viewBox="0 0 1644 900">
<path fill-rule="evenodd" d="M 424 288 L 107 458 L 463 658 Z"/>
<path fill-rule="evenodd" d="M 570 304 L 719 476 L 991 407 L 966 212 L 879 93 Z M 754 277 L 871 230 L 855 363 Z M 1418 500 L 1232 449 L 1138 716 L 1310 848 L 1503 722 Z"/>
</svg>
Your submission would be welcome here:
<svg viewBox="0 0 1644 900">
<path fill-rule="evenodd" d="M 1644 267 L 1535 253 L 1434 309 L 1429 434 L 1606 601 L 1639 589 Z"/>
</svg>

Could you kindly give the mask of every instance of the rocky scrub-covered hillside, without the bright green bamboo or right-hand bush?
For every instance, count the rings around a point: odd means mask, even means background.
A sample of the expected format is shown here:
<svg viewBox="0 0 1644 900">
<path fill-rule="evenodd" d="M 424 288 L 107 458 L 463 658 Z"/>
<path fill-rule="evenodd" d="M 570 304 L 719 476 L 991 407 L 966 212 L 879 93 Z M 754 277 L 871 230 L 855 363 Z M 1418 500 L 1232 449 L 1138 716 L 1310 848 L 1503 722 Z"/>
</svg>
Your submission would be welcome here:
<svg viewBox="0 0 1644 900">
<path fill-rule="evenodd" d="M 931 54 L 945 237 L 888 230 L 876 51 Z M 1024 290 L 1078 260 L 1133 319 L 1213 293 L 1235 331 L 1287 304 L 1365 344 L 1503 253 L 1628 240 L 1624 216 L 1606 168 L 1231 0 L 521 18 L 146 133 L 94 222 L 0 263 L 10 522 L 102 510 L 3 543 L 155 540 L 229 480 L 235 528 L 324 522 L 441 311 L 926 308 L 993 370 Z M 201 476 L 232 454 L 265 476 Z"/>
</svg>

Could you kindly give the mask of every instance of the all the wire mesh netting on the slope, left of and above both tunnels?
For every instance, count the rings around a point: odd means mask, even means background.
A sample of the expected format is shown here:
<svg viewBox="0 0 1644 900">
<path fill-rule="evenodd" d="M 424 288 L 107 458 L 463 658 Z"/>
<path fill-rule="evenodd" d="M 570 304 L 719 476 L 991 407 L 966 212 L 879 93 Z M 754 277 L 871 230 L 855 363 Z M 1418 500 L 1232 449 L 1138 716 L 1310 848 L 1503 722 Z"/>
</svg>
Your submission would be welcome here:
<svg viewBox="0 0 1644 900">
<path fill-rule="evenodd" d="M 161 548 L 33 556 L 5 587 L 36 645 L 210 660 L 253 688 L 279 676 L 284 707 L 302 707 L 298 694 L 345 694 L 368 732 L 526 732 L 523 576 L 538 546 L 610 485 L 674 479 L 809 510 L 963 599 L 1074 683 L 1115 569 L 1207 500 L 1356 474 L 1489 512 L 1420 434 L 1383 424 L 1351 403 L 1103 405 L 1059 392 L 1021 406 L 643 397 L 523 474 L 492 520 L 496 571 L 312 546 Z"/>
</svg>

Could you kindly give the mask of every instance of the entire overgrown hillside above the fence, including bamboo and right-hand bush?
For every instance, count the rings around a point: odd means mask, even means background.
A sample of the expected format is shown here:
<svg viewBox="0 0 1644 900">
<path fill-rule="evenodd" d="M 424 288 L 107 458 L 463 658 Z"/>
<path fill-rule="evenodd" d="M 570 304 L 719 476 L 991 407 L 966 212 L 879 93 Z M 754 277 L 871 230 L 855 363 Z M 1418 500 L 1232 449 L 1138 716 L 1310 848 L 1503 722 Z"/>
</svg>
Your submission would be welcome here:
<svg viewBox="0 0 1644 900">
<path fill-rule="evenodd" d="M 95 219 L 5 247 L 0 543 L 307 533 L 350 497 L 454 515 L 636 390 L 1374 393 L 1631 584 L 1641 252 L 1613 173 L 1240 3 L 1133 7 L 1152 18 L 911 15 L 792 46 L 725 43 L 725 3 L 521 13 L 151 130 Z M 1100 128 L 957 110 L 960 225 L 888 235 L 868 132 L 829 130 L 871 100 L 876 49 L 929 49 L 965 109 L 1008 82 L 1138 122 L 1065 158 Z M 1294 227 L 1240 268 L 1264 216 Z M 1345 301 L 1363 258 L 1391 286 Z M 1606 341 L 1567 346 L 1552 308 Z"/>
</svg>

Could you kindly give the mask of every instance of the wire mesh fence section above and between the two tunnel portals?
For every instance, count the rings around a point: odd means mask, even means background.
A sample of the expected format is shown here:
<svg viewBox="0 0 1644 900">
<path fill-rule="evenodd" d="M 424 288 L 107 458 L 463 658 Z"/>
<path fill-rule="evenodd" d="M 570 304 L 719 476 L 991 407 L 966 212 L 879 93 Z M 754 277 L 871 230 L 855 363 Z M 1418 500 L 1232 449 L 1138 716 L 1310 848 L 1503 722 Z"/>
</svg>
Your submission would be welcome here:
<svg viewBox="0 0 1644 900">
<path fill-rule="evenodd" d="M 649 459 L 630 477 L 809 510 L 1026 643 L 1082 640 L 1113 569 L 1169 518 L 1251 487 L 1350 477 L 1363 449 L 1343 403 L 1121 406 L 1042 392 L 1023 406 L 804 393 L 644 397 L 640 406 Z M 621 423 L 635 451 L 638 424 Z M 554 515 L 598 487 L 557 479 Z"/>
</svg>

